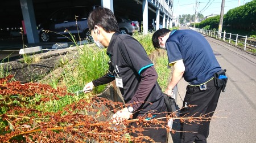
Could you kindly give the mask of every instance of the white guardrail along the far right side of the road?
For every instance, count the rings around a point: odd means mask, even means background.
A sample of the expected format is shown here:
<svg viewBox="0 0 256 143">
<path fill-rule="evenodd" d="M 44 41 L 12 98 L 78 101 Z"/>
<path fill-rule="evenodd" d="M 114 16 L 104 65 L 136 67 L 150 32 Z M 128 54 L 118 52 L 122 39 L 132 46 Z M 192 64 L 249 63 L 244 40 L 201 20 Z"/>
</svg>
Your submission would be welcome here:
<svg viewBox="0 0 256 143">
<path fill-rule="evenodd" d="M 253 38 L 253 37 L 226 33 L 226 31 L 218 32 L 218 31 L 210 31 L 207 29 L 199 29 L 199 28 L 190 28 L 190 29 L 193 29 L 194 31 L 200 32 L 207 36 L 214 37 L 219 40 L 223 40 L 225 42 L 229 42 L 229 43 L 231 42 L 236 46 L 237 45 L 243 46 L 243 50 L 246 50 L 246 47 L 249 49 L 256 49 L 256 38 Z"/>
</svg>

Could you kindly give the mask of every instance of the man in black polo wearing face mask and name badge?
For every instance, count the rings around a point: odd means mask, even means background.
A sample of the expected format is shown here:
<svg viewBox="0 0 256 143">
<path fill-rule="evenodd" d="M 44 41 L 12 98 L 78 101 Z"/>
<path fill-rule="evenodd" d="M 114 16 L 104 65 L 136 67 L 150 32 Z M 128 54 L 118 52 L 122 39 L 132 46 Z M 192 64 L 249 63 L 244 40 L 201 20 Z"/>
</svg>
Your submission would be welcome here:
<svg viewBox="0 0 256 143">
<path fill-rule="evenodd" d="M 117 20 L 108 8 L 93 10 L 88 17 L 88 26 L 95 44 L 100 48 L 108 47 L 110 61 L 108 73 L 86 84 L 84 91 L 116 81 L 127 107 L 113 115 L 114 122 L 129 119 L 130 115 L 133 115 L 133 119 L 139 116 L 151 118 L 147 116 L 148 113 L 154 118 L 166 116 L 163 113 L 167 112 L 163 92 L 156 81 L 158 74 L 142 45 L 128 34 L 119 34 Z M 131 125 L 138 126 L 136 123 Z M 166 142 L 166 129 L 162 125 L 157 127 L 159 129 L 146 127 L 142 133 L 155 142 Z M 132 136 L 137 134 L 133 133 Z"/>
</svg>

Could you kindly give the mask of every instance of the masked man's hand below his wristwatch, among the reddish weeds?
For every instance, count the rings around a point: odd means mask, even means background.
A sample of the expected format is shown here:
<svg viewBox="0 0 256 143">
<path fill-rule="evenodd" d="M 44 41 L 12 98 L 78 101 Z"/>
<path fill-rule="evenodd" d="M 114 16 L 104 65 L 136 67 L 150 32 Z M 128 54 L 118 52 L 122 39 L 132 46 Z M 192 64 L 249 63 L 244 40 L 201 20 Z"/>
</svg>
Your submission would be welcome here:
<svg viewBox="0 0 256 143">
<path fill-rule="evenodd" d="M 115 125 L 118 125 L 123 122 L 125 119 L 129 119 L 130 115 L 133 115 L 133 113 L 129 112 L 127 107 L 125 107 L 122 110 L 117 111 L 113 116 L 112 120 Z"/>
</svg>

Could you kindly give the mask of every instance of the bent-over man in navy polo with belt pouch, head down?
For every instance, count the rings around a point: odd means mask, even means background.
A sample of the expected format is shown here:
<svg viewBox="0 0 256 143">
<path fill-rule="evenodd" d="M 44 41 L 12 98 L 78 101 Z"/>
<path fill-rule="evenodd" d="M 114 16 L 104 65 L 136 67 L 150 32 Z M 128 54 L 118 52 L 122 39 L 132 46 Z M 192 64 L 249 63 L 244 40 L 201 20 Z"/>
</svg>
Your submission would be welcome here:
<svg viewBox="0 0 256 143">
<path fill-rule="evenodd" d="M 181 77 L 189 84 L 181 116 L 213 115 L 221 88 L 214 85 L 214 73 L 221 71 L 208 41 L 192 30 L 159 29 L 152 36 L 156 49 L 167 50 L 168 66 L 174 66 L 172 79 L 165 93 L 172 96 Z M 196 105 L 195 107 L 188 107 Z M 208 117 L 208 116 L 207 116 Z M 207 142 L 209 122 L 181 123 L 181 142 Z"/>
</svg>

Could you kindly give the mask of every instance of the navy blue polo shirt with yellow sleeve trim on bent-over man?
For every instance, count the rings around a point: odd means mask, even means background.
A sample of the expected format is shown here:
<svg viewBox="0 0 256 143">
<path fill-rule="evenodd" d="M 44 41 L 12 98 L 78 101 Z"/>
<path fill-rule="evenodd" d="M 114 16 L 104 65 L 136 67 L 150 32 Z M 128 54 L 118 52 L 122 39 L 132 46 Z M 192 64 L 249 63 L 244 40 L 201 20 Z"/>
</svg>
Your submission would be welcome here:
<svg viewBox="0 0 256 143">
<path fill-rule="evenodd" d="M 215 72 L 221 70 L 212 47 L 199 32 L 172 31 L 166 41 L 166 50 L 170 66 L 183 59 L 183 77 L 191 85 L 203 84 L 210 80 Z"/>
</svg>

